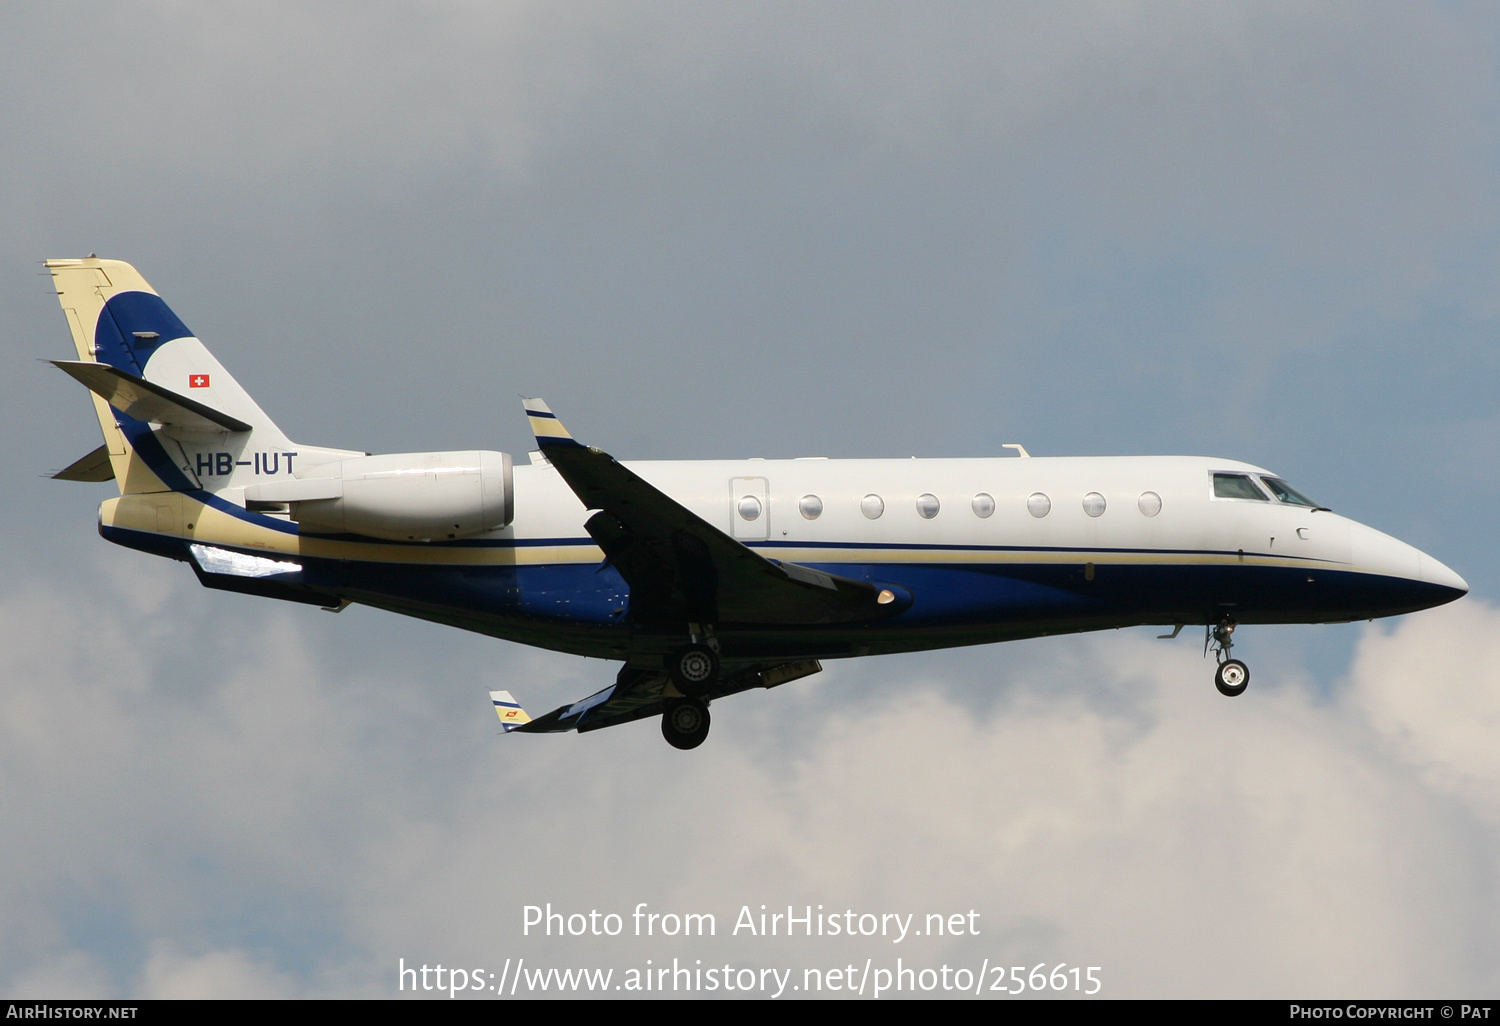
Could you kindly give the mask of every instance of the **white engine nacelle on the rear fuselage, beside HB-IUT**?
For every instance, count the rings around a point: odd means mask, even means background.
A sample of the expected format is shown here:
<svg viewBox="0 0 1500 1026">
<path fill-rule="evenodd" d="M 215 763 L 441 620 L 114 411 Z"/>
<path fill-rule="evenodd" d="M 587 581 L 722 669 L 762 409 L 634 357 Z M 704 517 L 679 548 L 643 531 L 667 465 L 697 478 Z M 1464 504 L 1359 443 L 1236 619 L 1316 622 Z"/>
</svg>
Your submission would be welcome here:
<svg viewBox="0 0 1500 1026">
<path fill-rule="evenodd" d="M 309 466 L 286 484 L 291 519 L 320 534 L 468 538 L 514 516 L 510 456 L 488 450 L 340 459 Z"/>
</svg>

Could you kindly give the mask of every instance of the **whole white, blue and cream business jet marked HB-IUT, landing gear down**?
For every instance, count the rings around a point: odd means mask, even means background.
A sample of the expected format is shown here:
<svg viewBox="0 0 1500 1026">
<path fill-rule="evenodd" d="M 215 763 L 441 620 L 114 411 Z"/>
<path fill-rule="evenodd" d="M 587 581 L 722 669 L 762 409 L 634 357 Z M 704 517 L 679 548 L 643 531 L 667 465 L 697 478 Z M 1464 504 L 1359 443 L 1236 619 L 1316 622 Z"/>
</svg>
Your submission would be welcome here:
<svg viewBox="0 0 1500 1026">
<path fill-rule="evenodd" d="M 1142 624 L 1204 626 L 1215 684 L 1240 624 L 1426 609 L 1468 586 L 1275 474 L 1192 456 L 621 464 L 540 399 L 530 462 L 294 444 L 134 267 L 52 260 L 104 444 L 99 532 L 208 588 L 350 603 L 620 662 L 615 682 L 506 730 L 658 716 L 678 748 L 710 704 L 819 660 Z"/>
</svg>

